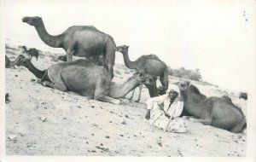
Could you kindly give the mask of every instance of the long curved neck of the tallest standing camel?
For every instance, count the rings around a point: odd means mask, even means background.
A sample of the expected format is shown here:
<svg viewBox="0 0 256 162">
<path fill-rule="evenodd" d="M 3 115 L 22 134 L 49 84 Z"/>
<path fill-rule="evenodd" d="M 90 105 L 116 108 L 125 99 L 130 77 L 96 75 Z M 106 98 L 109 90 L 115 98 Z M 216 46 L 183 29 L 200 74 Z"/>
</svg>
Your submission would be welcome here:
<svg viewBox="0 0 256 162">
<path fill-rule="evenodd" d="M 44 43 L 46 43 L 50 47 L 61 48 L 62 35 L 58 35 L 58 36 L 49 35 L 49 33 L 46 31 L 44 27 L 43 21 L 41 21 L 40 25 L 35 26 L 35 28 L 38 32 L 39 37 L 42 39 Z"/>
</svg>

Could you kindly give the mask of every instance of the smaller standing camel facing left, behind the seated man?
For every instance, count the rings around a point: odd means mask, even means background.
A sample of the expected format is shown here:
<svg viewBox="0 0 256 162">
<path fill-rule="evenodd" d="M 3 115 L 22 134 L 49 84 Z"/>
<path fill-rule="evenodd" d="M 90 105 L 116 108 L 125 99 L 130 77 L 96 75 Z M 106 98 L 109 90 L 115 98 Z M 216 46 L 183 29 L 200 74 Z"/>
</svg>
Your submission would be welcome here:
<svg viewBox="0 0 256 162">
<path fill-rule="evenodd" d="M 137 70 L 137 72 L 145 72 L 146 74 L 149 74 L 151 76 L 151 82 L 148 82 L 148 84 L 144 84 L 148 88 L 150 97 L 163 95 L 168 89 L 168 67 L 166 66 L 166 63 L 160 61 L 157 55 L 142 55 L 136 61 L 130 61 L 128 49 L 129 46 L 127 45 L 121 45 L 116 49 L 123 54 L 125 66 L 130 69 L 135 69 Z M 157 76 L 160 76 L 160 83 L 162 84 L 159 89 L 157 89 L 156 87 Z M 140 101 L 140 94 L 142 89 L 143 84 L 141 84 L 139 87 L 139 96 L 137 102 Z M 132 95 L 133 94 L 134 91 Z"/>
</svg>

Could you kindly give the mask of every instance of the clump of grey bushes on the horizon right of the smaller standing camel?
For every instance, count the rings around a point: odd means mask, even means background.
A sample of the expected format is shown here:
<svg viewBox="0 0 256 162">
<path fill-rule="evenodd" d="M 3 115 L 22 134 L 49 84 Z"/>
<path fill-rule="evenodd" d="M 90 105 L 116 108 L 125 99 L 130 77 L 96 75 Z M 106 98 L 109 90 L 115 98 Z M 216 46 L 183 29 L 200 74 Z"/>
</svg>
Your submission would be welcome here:
<svg viewBox="0 0 256 162">
<path fill-rule="evenodd" d="M 168 70 L 168 74 L 171 76 L 201 81 L 201 72 L 199 69 L 187 70 L 184 67 L 180 67 L 178 69 L 172 69 L 171 67 L 168 67 Z"/>
</svg>

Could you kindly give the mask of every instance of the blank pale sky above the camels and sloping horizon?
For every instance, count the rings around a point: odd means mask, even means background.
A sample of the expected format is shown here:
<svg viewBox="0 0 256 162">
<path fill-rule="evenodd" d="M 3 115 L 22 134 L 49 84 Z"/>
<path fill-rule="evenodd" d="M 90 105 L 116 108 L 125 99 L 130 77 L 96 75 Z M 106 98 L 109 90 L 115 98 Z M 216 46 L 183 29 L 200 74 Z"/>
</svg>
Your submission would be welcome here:
<svg viewBox="0 0 256 162">
<path fill-rule="evenodd" d="M 204 81 L 229 90 L 255 90 L 255 1 L 242 0 L 0 0 L 1 38 L 44 44 L 23 16 L 40 16 L 51 35 L 69 26 L 96 26 L 131 61 L 155 54 L 169 67 L 200 69 Z M 4 35 L 3 35 L 4 34 Z M 2 46 L 3 47 L 3 46 Z M 116 53 L 116 63 L 124 64 Z"/>
</svg>

